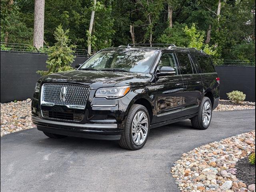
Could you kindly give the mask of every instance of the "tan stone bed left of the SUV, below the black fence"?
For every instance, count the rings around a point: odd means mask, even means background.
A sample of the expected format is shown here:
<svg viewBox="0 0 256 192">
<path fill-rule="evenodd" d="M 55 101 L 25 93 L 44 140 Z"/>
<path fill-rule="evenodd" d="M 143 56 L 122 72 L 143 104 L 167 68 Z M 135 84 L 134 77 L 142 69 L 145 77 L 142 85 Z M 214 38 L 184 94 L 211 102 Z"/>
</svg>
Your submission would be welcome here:
<svg viewBox="0 0 256 192">
<path fill-rule="evenodd" d="M 1 137 L 35 127 L 31 121 L 31 99 L 1 103 Z"/>
</svg>

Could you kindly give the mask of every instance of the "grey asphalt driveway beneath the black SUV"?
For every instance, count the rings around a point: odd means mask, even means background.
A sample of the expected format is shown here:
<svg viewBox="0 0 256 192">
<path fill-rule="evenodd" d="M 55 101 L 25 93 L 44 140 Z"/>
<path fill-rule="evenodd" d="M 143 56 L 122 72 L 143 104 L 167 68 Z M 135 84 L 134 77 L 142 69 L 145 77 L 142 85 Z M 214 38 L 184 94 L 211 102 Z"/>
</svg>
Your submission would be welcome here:
<svg viewBox="0 0 256 192">
<path fill-rule="evenodd" d="M 182 153 L 254 128 L 255 110 L 214 112 L 207 130 L 192 129 L 189 120 L 150 130 L 138 151 L 24 130 L 1 138 L 1 191 L 178 192 L 170 168 Z"/>
</svg>

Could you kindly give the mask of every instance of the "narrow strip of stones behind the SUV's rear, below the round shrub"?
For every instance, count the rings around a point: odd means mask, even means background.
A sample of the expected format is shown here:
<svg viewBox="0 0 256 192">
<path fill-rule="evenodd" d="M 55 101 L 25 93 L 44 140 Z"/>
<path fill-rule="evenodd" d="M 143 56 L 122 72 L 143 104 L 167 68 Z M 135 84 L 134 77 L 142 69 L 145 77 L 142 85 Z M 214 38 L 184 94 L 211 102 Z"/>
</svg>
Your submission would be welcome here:
<svg viewBox="0 0 256 192">
<path fill-rule="evenodd" d="M 233 103 L 229 100 L 220 100 L 219 105 L 214 111 L 232 111 L 232 110 L 244 110 L 255 109 L 255 102 L 243 101 L 239 104 Z"/>
</svg>

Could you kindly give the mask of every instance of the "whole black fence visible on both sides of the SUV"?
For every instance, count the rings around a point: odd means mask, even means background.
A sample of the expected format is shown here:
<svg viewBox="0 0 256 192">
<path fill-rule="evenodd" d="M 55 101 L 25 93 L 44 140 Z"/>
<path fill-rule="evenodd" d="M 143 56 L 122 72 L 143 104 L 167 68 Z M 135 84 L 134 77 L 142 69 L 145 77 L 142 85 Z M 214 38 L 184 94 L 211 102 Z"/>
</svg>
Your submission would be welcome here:
<svg viewBox="0 0 256 192">
<path fill-rule="evenodd" d="M 76 56 L 72 63 L 83 63 L 88 57 Z M 46 54 L 1 51 L 1 103 L 32 98 L 34 86 L 46 70 Z M 240 90 L 247 101 L 255 101 L 255 66 L 215 66 L 220 77 L 220 98 L 226 93 Z"/>
</svg>

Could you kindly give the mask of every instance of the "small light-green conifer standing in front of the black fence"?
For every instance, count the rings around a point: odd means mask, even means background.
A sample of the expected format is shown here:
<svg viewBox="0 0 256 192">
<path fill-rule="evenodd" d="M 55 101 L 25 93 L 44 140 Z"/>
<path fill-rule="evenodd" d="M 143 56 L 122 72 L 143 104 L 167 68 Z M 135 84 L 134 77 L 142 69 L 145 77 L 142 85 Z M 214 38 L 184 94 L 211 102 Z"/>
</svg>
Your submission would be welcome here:
<svg viewBox="0 0 256 192">
<path fill-rule="evenodd" d="M 38 74 L 45 76 L 55 72 L 73 70 L 71 64 L 75 56 L 72 55 L 74 54 L 72 48 L 75 48 L 75 46 L 69 45 L 68 32 L 69 30 L 64 31 L 61 25 L 56 28 L 54 32 L 56 43 L 49 48 L 50 54 L 46 61 L 48 71 L 38 71 Z"/>
</svg>

